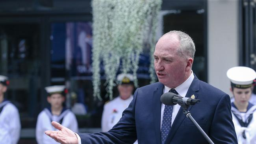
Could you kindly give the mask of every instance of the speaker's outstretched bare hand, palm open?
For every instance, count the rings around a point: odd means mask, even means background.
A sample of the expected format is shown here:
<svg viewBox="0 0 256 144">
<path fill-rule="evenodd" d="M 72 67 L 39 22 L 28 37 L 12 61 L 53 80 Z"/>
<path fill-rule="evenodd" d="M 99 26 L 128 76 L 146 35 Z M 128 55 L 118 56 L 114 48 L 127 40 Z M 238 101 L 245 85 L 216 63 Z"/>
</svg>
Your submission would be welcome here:
<svg viewBox="0 0 256 144">
<path fill-rule="evenodd" d="M 45 131 L 45 134 L 61 144 L 78 144 L 76 134 L 67 127 L 61 126 L 58 122 L 52 122 L 59 131 Z"/>
</svg>

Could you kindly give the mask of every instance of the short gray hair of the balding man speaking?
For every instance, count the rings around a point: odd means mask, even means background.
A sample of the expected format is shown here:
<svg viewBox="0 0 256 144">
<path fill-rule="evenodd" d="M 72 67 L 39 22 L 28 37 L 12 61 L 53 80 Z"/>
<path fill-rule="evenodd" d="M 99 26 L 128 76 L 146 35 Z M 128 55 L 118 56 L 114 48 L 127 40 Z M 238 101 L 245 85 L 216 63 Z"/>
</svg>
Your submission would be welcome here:
<svg viewBox="0 0 256 144">
<path fill-rule="evenodd" d="M 184 33 L 182 31 L 169 31 L 164 35 L 170 34 L 176 34 L 179 38 L 180 47 L 178 48 L 177 53 L 186 59 L 189 57 L 192 57 L 194 59 L 196 49 L 195 43 L 193 42 L 191 37 L 189 37 L 187 33 Z"/>
</svg>

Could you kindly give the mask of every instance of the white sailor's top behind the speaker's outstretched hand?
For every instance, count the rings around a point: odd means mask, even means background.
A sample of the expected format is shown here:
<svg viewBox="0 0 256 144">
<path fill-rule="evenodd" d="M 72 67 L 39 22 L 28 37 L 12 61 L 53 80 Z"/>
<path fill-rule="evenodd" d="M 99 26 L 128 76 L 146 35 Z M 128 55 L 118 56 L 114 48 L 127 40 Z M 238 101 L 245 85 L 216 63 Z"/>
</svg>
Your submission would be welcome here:
<svg viewBox="0 0 256 144">
<path fill-rule="evenodd" d="M 51 122 L 59 122 L 61 118 L 63 118 L 61 122 L 62 126 L 67 127 L 76 133 L 78 132 L 78 123 L 76 120 L 76 116 L 69 109 L 63 111 L 61 114 L 59 114 L 59 116 L 52 115 L 49 109 L 44 109 L 43 111 L 41 111 L 41 113 L 39 113 L 37 117 L 35 137 L 38 144 L 59 144 L 54 139 L 45 135 L 45 131 L 56 131 L 57 129 L 52 126 Z"/>
</svg>

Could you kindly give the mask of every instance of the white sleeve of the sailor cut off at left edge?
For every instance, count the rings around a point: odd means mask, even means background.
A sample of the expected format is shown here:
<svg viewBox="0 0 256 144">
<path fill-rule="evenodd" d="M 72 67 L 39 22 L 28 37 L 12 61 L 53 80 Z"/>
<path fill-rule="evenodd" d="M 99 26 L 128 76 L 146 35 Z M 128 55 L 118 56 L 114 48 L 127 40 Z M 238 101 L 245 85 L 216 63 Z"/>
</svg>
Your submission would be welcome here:
<svg viewBox="0 0 256 144">
<path fill-rule="evenodd" d="M 11 114 L 10 120 L 10 135 L 13 138 L 12 144 L 17 144 L 20 139 L 20 115 L 18 109 L 15 107 L 13 113 Z"/>
</svg>

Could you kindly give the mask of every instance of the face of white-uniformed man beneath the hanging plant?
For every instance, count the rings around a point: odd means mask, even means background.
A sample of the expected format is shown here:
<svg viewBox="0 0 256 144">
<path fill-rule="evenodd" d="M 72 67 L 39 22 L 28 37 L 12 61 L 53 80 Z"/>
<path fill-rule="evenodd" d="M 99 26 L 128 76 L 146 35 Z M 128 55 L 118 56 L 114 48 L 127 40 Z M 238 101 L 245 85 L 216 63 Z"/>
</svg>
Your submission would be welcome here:
<svg viewBox="0 0 256 144">
<path fill-rule="evenodd" d="M 117 87 L 121 99 L 126 100 L 130 98 L 134 90 L 134 86 L 131 84 L 122 84 Z"/>
</svg>

